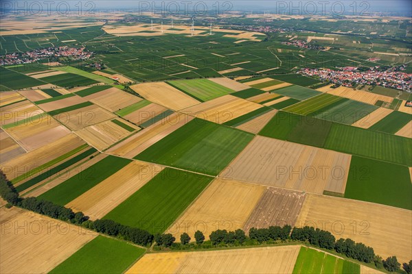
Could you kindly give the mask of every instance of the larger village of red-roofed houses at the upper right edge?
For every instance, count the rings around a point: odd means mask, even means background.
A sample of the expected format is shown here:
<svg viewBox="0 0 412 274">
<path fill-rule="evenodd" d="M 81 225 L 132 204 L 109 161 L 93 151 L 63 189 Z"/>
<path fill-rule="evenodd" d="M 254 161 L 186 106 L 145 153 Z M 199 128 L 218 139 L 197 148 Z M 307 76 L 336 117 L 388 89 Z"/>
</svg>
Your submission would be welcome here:
<svg viewBox="0 0 412 274">
<path fill-rule="evenodd" d="M 380 67 L 368 71 L 358 71 L 356 68 L 340 69 L 301 69 L 299 73 L 310 77 L 319 77 L 322 81 L 352 87 L 354 84 L 384 86 L 407 92 L 412 91 L 412 73 L 403 72 L 404 65 L 382 71 Z"/>
</svg>

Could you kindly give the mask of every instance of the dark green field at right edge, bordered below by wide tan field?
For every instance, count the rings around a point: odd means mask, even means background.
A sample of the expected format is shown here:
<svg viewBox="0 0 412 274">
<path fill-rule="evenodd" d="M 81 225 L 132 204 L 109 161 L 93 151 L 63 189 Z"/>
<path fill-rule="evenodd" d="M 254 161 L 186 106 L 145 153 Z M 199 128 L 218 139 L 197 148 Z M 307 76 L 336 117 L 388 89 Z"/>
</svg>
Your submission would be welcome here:
<svg viewBox="0 0 412 274">
<path fill-rule="evenodd" d="M 352 156 L 345 198 L 412 210 L 407 166 Z"/>
</svg>

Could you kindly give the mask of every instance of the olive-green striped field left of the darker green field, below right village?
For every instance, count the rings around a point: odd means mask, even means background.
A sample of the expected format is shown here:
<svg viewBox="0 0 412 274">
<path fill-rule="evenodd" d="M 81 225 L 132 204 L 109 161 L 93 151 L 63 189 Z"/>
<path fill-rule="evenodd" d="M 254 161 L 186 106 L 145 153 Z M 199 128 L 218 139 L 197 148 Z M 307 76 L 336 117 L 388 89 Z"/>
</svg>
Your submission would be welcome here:
<svg viewBox="0 0 412 274">
<path fill-rule="evenodd" d="M 315 96 L 305 101 L 301 101 L 300 103 L 296 103 L 295 105 L 291 105 L 290 107 L 285 108 L 284 111 L 293 112 L 300 115 L 308 115 L 341 100 L 343 100 L 342 97 L 323 93 L 319 96 Z"/>
</svg>

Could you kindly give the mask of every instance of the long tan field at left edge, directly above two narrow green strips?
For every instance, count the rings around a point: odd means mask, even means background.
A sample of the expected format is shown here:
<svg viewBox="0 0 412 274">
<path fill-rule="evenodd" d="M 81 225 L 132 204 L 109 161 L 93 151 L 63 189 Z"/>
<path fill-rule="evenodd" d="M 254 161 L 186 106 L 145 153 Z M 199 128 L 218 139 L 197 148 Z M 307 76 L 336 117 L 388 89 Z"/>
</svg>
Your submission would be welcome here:
<svg viewBox="0 0 412 274">
<path fill-rule="evenodd" d="M 63 155 L 80 145 L 83 145 L 84 141 L 76 136 L 76 134 L 69 134 L 54 142 L 50 142 L 43 147 L 34 149 L 23 155 L 19 155 L 10 161 L 1 163 L 0 168 L 3 170 L 8 179 L 12 180 L 15 177 L 22 174 L 22 170 L 26 173 L 32 169 L 45 164 L 60 155 Z"/>
</svg>

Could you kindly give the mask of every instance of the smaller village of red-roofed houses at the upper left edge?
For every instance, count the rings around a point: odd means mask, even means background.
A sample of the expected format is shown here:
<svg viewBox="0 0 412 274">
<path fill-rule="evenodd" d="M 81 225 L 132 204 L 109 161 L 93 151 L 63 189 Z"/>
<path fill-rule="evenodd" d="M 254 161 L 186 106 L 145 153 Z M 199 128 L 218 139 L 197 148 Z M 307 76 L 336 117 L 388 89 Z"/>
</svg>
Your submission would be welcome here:
<svg viewBox="0 0 412 274">
<path fill-rule="evenodd" d="M 25 53 L 15 52 L 1 55 L 0 65 L 28 64 L 45 58 L 58 58 L 65 56 L 69 56 L 74 60 L 84 60 L 91 58 L 92 55 L 93 53 L 85 50 L 84 47 L 47 47 L 45 49 L 26 51 Z"/>
</svg>

